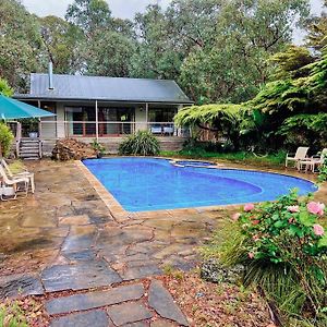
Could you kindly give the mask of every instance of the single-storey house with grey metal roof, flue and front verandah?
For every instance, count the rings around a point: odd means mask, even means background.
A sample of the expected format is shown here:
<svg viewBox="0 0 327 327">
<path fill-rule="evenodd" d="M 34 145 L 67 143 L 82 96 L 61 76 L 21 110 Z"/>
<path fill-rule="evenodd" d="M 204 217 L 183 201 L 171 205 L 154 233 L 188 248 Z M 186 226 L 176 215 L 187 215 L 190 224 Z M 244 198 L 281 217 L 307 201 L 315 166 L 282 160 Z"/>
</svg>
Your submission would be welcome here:
<svg viewBox="0 0 327 327">
<path fill-rule="evenodd" d="M 174 81 L 59 75 L 51 66 L 49 74 L 31 74 L 29 93 L 14 97 L 56 113 L 40 119 L 35 131 L 48 150 L 64 137 L 117 148 L 122 137 L 140 130 L 150 131 L 164 145 L 180 146 L 185 134 L 174 126 L 173 116 L 193 104 Z M 27 136 L 24 126 L 22 135 Z"/>
</svg>

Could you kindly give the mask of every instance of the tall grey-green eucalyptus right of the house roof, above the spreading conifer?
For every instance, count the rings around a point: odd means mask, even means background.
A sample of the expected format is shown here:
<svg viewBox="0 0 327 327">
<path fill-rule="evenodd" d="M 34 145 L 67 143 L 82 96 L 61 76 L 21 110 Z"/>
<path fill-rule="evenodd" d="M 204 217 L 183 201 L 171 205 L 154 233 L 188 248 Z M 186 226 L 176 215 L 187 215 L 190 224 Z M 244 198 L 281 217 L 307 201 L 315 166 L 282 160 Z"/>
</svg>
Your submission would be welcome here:
<svg viewBox="0 0 327 327">
<path fill-rule="evenodd" d="M 267 59 L 292 40 L 306 0 L 231 0 L 219 7 L 215 40 L 184 60 L 180 82 L 198 102 L 252 98 L 267 82 Z"/>
</svg>

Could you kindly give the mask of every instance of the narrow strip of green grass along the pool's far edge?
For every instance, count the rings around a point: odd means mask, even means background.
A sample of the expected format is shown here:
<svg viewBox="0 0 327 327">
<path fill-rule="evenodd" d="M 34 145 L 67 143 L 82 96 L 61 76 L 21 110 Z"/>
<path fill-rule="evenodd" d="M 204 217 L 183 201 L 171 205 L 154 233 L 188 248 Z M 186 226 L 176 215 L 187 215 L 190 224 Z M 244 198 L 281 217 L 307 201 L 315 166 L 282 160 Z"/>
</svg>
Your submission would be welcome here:
<svg viewBox="0 0 327 327">
<path fill-rule="evenodd" d="M 256 156 L 252 153 L 211 153 L 198 150 L 180 150 L 180 152 L 160 152 L 160 156 L 170 158 L 185 159 L 206 159 L 210 161 L 230 161 L 242 165 L 255 166 L 274 166 L 282 167 L 284 164 L 286 153 L 279 152 L 267 156 Z"/>
</svg>

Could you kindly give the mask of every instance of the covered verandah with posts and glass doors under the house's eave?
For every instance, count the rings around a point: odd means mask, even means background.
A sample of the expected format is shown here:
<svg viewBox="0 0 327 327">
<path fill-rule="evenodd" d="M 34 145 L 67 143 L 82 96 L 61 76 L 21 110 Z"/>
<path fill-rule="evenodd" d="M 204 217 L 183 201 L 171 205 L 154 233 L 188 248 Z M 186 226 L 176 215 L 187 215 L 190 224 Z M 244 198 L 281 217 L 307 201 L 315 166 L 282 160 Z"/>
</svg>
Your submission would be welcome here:
<svg viewBox="0 0 327 327">
<path fill-rule="evenodd" d="M 26 100 L 25 100 L 26 101 Z M 147 130 L 157 136 L 184 136 L 174 125 L 173 117 L 182 105 L 149 102 L 89 101 L 26 101 L 56 113 L 53 118 L 34 122 L 33 132 L 40 140 L 64 137 L 106 138 Z M 21 135 L 28 137 L 31 124 L 22 124 Z"/>
</svg>

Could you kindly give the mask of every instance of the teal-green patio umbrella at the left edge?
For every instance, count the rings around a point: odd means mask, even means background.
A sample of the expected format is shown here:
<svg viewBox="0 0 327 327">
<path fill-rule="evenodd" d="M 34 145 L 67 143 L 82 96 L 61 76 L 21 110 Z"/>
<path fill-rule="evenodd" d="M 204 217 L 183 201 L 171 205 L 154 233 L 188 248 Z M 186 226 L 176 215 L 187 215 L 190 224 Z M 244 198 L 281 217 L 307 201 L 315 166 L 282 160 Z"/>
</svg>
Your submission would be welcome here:
<svg viewBox="0 0 327 327">
<path fill-rule="evenodd" d="M 0 120 L 53 117 L 52 112 L 11 99 L 0 94 Z"/>
</svg>

